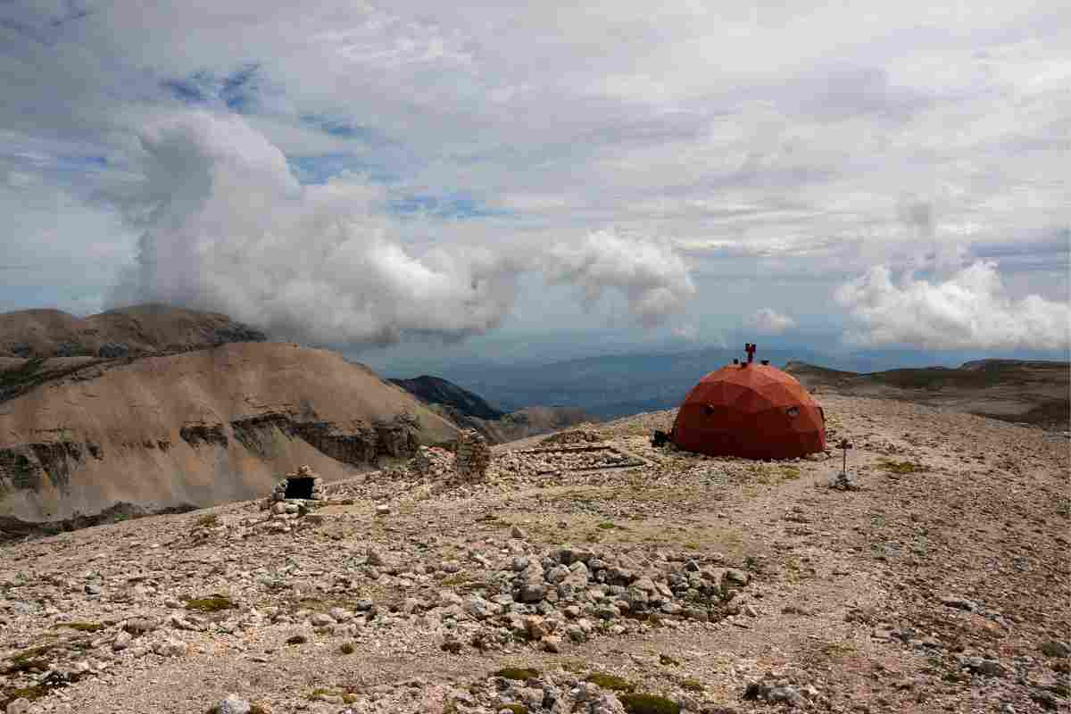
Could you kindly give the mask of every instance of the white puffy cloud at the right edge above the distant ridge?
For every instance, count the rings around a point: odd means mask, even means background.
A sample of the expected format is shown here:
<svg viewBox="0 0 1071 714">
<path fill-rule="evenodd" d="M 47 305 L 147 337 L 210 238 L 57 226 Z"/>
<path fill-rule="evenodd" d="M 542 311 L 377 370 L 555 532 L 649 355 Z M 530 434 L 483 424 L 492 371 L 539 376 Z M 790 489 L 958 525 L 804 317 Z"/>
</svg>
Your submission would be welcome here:
<svg viewBox="0 0 1071 714">
<path fill-rule="evenodd" d="M 925 349 L 1068 349 L 1071 308 L 1030 294 L 1012 300 L 995 261 L 976 261 L 939 283 L 911 275 L 894 283 L 886 265 L 841 286 L 836 301 L 858 329 L 860 346 Z"/>
</svg>

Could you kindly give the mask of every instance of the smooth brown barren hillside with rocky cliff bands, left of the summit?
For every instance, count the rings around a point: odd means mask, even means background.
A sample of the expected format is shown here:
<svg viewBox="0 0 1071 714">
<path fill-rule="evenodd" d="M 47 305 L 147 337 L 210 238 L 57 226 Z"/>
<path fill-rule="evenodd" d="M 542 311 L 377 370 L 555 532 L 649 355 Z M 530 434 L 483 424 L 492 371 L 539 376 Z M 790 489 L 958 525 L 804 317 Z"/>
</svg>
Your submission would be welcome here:
<svg viewBox="0 0 1071 714">
<path fill-rule="evenodd" d="M 302 464 L 350 475 L 411 453 L 403 412 L 424 442 L 456 431 L 371 370 L 296 345 L 0 366 L 31 385 L 0 401 L 0 513 L 25 519 L 251 498 Z"/>
</svg>

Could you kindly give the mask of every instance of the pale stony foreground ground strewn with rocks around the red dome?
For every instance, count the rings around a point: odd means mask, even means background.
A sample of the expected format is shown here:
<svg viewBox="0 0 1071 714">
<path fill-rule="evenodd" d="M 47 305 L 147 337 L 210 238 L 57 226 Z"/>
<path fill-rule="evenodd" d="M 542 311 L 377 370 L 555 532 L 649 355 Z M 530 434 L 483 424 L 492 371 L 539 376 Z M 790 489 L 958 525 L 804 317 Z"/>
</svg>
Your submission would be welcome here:
<svg viewBox="0 0 1071 714">
<path fill-rule="evenodd" d="M 840 452 L 655 449 L 672 412 L 0 549 L 9 712 L 1069 707 L 1068 440 L 823 395 Z M 267 496 L 267 493 L 266 493 Z"/>
</svg>

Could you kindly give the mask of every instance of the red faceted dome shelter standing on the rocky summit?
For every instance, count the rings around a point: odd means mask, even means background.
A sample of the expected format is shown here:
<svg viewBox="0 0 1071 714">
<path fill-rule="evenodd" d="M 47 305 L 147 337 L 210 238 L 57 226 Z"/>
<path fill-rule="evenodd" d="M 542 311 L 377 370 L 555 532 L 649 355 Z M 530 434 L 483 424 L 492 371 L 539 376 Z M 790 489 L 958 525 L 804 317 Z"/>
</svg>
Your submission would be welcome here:
<svg viewBox="0 0 1071 714">
<path fill-rule="evenodd" d="M 795 458 L 826 447 L 826 415 L 803 385 L 768 362 L 726 365 L 696 384 L 677 412 L 679 449 L 712 456 Z"/>
</svg>

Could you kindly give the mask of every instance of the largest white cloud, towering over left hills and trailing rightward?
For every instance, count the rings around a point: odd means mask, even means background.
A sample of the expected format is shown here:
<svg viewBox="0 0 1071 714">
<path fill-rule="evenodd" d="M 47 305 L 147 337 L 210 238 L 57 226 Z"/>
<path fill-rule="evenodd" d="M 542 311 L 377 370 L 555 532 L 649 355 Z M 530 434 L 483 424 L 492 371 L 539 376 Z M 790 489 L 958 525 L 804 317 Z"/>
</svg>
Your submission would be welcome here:
<svg viewBox="0 0 1071 714">
<path fill-rule="evenodd" d="M 144 234 L 116 303 L 216 309 L 278 334 L 358 345 L 491 330 L 528 271 L 589 299 L 619 290 L 644 325 L 694 291 L 679 257 L 610 231 L 575 248 L 452 244 L 416 255 L 381 187 L 355 176 L 300 185 L 283 152 L 239 117 L 181 112 L 140 138 L 146 179 L 119 202 Z"/>
</svg>

